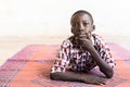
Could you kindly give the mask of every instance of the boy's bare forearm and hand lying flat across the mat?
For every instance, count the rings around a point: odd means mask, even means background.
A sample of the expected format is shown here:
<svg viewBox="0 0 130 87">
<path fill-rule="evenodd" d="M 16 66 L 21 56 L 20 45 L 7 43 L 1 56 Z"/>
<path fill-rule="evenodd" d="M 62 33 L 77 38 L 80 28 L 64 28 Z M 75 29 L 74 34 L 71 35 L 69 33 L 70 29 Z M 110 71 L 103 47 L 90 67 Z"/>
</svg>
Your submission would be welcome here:
<svg viewBox="0 0 130 87">
<path fill-rule="evenodd" d="M 86 84 L 105 84 L 106 78 L 100 77 L 91 74 L 80 74 L 80 73 L 51 73 L 50 77 L 54 80 L 66 80 L 66 82 L 81 82 Z"/>
</svg>

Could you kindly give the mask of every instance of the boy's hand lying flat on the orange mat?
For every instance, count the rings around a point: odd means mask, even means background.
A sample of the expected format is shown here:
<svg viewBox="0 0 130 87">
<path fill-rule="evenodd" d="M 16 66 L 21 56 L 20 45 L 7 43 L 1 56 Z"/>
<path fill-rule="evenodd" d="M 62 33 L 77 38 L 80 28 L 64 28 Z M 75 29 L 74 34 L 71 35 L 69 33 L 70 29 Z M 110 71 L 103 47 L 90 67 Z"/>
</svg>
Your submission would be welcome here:
<svg viewBox="0 0 130 87">
<path fill-rule="evenodd" d="M 94 85 L 105 85 L 107 82 L 107 78 L 95 76 L 95 75 L 84 75 L 81 79 L 83 83 L 87 84 L 94 84 Z"/>
</svg>

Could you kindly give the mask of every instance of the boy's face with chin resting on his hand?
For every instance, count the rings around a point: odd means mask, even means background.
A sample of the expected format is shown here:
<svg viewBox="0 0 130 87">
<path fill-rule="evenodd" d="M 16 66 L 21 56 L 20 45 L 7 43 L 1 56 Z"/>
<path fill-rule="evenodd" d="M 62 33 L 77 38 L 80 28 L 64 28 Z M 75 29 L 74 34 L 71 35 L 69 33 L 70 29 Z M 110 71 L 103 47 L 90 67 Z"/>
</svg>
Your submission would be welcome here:
<svg viewBox="0 0 130 87">
<path fill-rule="evenodd" d="M 72 33 L 76 37 L 90 39 L 93 32 L 93 24 L 88 14 L 76 14 L 72 21 Z"/>
</svg>

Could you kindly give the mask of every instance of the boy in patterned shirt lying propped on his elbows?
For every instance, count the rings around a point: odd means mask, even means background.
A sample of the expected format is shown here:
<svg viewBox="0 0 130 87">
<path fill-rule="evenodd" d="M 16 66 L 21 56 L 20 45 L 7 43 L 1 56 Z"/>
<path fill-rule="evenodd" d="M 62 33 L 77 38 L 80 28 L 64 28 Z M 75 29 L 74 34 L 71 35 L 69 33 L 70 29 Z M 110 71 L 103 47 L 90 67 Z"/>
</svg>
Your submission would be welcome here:
<svg viewBox="0 0 130 87">
<path fill-rule="evenodd" d="M 61 45 L 50 73 L 51 79 L 105 84 L 106 78 L 114 75 L 115 63 L 103 39 L 92 34 L 95 28 L 92 15 L 79 10 L 73 14 L 70 25 L 74 35 Z M 99 66 L 105 77 L 81 73 L 88 73 L 95 66 Z M 68 69 L 75 73 L 67 72 Z"/>
</svg>

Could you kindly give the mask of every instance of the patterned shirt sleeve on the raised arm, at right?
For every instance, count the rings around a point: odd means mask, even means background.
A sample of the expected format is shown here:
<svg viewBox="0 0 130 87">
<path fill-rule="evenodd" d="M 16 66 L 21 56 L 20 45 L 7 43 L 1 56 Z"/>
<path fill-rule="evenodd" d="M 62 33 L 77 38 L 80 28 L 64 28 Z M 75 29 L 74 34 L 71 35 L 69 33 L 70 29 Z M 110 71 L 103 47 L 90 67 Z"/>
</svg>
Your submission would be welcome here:
<svg viewBox="0 0 130 87">
<path fill-rule="evenodd" d="M 112 67 L 115 67 L 115 60 L 112 58 L 110 50 L 108 46 L 104 42 L 102 37 L 96 36 L 95 38 L 95 49 L 99 51 L 101 58 Z"/>
</svg>

